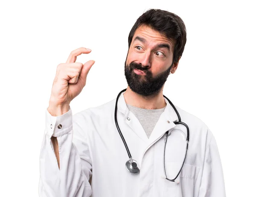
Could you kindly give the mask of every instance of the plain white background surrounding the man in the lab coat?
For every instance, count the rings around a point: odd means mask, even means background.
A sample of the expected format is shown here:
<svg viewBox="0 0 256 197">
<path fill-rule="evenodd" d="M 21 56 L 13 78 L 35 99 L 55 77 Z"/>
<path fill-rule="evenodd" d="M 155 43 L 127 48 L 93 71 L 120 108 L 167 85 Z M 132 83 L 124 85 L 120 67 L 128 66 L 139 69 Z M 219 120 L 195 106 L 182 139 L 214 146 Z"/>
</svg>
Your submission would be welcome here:
<svg viewBox="0 0 256 197">
<path fill-rule="evenodd" d="M 164 95 L 216 138 L 229 197 L 255 196 L 253 1 L 8 1 L 0 3 L 0 196 L 38 196 L 39 154 L 57 65 L 79 47 L 95 60 L 73 114 L 127 87 L 128 34 L 149 8 L 180 16 L 187 42 Z M 182 118 L 182 117 L 181 117 Z"/>
</svg>

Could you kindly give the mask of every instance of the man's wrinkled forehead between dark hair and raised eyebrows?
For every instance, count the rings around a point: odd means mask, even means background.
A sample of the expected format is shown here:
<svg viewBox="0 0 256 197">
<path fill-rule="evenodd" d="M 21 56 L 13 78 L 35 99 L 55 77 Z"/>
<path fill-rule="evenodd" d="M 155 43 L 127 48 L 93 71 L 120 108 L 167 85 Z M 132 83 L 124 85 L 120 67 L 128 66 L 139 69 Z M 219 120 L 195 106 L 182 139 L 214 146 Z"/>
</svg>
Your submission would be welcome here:
<svg viewBox="0 0 256 197">
<path fill-rule="evenodd" d="M 154 45 L 155 43 L 161 42 L 161 43 L 166 43 L 166 44 L 168 43 L 173 48 L 174 43 L 175 43 L 174 39 L 169 39 L 165 35 L 160 34 L 159 31 L 155 31 L 154 29 L 152 29 L 146 25 L 141 25 L 139 28 L 137 28 L 137 30 L 134 32 L 132 42 L 135 41 L 134 39 L 137 36 L 143 37 L 144 39 L 146 39 L 146 41 L 150 45 Z M 136 41 L 140 42 L 138 39 Z"/>
</svg>

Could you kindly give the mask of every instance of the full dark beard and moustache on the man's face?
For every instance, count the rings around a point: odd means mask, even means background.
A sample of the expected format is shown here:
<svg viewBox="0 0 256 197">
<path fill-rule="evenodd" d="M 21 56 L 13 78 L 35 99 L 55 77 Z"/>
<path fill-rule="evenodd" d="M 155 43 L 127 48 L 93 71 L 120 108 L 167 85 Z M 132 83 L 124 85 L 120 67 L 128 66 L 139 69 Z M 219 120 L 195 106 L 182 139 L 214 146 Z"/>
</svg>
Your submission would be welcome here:
<svg viewBox="0 0 256 197">
<path fill-rule="evenodd" d="M 126 65 L 125 60 L 125 78 L 128 86 L 133 92 L 142 96 L 154 96 L 157 95 L 162 89 L 170 74 L 172 65 L 167 70 L 163 71 L 163 73 L 160 73 L 153 78 L 152 73 L 148 70 L 148 68 L 135 62 L 131 62 L 130 65 Z M 134 69 L 142 70 L 145 75 L 134 73 Z"/>
</svg>

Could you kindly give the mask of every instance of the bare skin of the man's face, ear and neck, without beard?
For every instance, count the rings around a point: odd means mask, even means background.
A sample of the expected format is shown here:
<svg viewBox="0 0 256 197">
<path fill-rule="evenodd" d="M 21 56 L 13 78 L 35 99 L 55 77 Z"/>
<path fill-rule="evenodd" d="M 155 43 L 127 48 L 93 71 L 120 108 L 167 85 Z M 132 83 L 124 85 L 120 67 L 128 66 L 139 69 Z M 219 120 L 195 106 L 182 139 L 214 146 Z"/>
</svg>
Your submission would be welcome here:
<svg viewBox="0 0 256 197">
<path fill-rule="evenodd" d="M 144 38 L 146 43 L 143 43 L 137 39 L 135 40 L 137 36 Z M 155 48 L 155 46 L 160 43 L 168 44 L 170 46 L 170 50 L 163 47 Z M 156 77 L 160 73 L 168 70 L 168 68 L 170 68 L 172 65 L 173 50 L 173 40 L 168 39 L 167 37 L 161 35 L 158 31 L 154 31 L 146 25 L 141 25 L 134 33 L 125 65 L 128 66 L 131 62 L 136 62 L 137 64 L 140 63 L 143 68 L 147 68 L 147 71 L 152 73 L 153 77 Z M 178 67 L 178 62 L 173 64 L 170 73 L 175 73 Z M 141 77 L 143 78 L 144 76 Z M 163 87 L 157 94 L 151 96 L 142 96 L 133 92 L 128 86 L 124 93 L 125 102 L 132 106 L 143 109 L 161 109 L 166 106 L 166 102 L 163 97 Z"/>
</svg>

